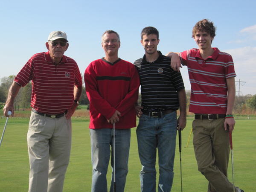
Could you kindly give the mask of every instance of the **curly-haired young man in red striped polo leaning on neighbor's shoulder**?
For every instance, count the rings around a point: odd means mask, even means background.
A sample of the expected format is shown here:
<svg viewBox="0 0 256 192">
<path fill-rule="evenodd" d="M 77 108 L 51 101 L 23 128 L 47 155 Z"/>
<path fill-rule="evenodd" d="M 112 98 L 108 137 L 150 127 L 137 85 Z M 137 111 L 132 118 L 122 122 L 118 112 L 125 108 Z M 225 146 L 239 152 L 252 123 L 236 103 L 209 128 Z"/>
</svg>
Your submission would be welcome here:
<svg viewBox="0 0 256 192">
<path fill-rule="evenodd" d="M 236 96 L 233 59 L 231 55 L 212 48 L 215 26 L 200 20 L 192 30 L 198 49 L 180 53 L 169 52 L 171 67 L 186 65 L 191 83 L 189 111 L 195 113 L 193 144 L 198 170 L 209 181 L 208 192 L 233 192 L 227 179 L 230 154 L 229 131 L 235 120 L 232 115 Z M 243 192 L 238 187 L 236 192 Z"/>
</svg>

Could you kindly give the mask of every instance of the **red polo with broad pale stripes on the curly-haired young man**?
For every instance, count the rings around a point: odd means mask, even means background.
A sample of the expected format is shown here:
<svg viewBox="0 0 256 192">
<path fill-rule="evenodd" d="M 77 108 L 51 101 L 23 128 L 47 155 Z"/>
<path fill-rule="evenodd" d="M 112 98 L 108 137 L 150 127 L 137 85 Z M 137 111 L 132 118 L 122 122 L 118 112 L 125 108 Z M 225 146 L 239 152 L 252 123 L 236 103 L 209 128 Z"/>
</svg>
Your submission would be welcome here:
<svg viewBox="0 0 256 192">
<path fill-rule="evenodd" d="M 217 113 L 227 111 L 227 81 L 235 77 L 231 55 L 212 48 L 215 52 L 207 59 L 201 57 L 199 49 L 180 52 L 180 60 L 188 67 L 191 84 L 189 111 L 192 113 Z"/>
</svg>

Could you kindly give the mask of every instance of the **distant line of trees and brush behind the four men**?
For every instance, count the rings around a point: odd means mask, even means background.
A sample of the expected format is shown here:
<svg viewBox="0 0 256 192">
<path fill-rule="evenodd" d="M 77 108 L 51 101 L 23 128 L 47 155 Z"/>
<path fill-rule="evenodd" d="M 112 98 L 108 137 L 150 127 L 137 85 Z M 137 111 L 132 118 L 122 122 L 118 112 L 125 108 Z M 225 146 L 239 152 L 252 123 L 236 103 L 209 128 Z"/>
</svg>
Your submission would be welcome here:
<svg viewBox="0 0 256 192">
<path fill-rule="evenodd" d="M 84 75 L 81 74 L 83 85 L 84 85 Z M 11 87 L 15 76 L 3 77 L 0 79 L 0 109 L 3 108 L 9 88 Z M 15 111 L 24 111 L 26 108 L 30 107 L 31 102 L 31 93 L 32 93 L 32 83 L 29 82 L 25 87 L 21 87 L 19 93 L 17 94 L 14 102 Z M 187 109 L 189 108 L 190 102 L 190 90 L 186 90 L 187 98 Z M 138 99 L 139 105 L 141 104 L 141 94 L 139 94 Z M 89 99 L 86 95 L 85 86 L 83 86 L 82 94 L 79 99 L 79 105 L 90 105 Z M 79 107 L 78 107 L 79 108 Z M 245 95 L 245 96 L 236 96 L 234 107 L 234 114 L 254 114 L 256 115 L 256 95 Z"/>
</svg>

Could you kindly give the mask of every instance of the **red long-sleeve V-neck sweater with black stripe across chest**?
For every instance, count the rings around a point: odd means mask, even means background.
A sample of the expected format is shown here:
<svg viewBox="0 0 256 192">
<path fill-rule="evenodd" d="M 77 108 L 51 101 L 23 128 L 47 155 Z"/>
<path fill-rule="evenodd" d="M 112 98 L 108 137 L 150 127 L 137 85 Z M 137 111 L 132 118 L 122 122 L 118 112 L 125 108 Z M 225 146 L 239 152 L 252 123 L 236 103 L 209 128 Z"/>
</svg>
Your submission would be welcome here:
<svg viewBox="0 0 256 192">
<path fill-rule="evenodd" d="M 133 64 L 121 59 L 113 64 L 98 59 L 85 70 L 84 82 L 90 101 L 89 128 L 113 128 L 108 119 L 116 110 L 121 116 L 115 128 L 136 127 L 135 102 L 140 79 Z"/>
</svg>

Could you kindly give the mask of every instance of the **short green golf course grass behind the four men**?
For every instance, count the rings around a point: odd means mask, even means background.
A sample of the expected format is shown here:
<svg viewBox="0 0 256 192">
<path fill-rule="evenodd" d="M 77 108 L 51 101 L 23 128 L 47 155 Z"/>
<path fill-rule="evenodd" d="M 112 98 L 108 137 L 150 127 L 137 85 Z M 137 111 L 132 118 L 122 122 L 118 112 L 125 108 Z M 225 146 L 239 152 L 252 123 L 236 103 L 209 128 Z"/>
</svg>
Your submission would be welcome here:
<svg viewBox="0 0 256 192">
<path fill-rule="evenodd" d="M 0 191 L 27 192 L 29 184 L 29 158 L 26 144 L 28 119 L 9 119 L 3 143 L 0 147 Z M 0 134 L 6 119 L 0 119 Z M 233 132 L 233 159 L 236 186 L 245 192 L 254 192 L 256 186 L 256 120 L 236 119 Z M 90 157 L 89 122 L 73 119 L 73 138 L 70 164 L 64 182 L 64 192 L 90 192 L 92 165 Z M 193 134 L 186 148 L 192 128 L 192 119 L 188 119 L 182 131 L 182 181 L 183 192 L 206 192 L 208 182 L 198 172 L 193 150 Z M 231 156 L 231 155 L 230 155 Z M 137 150 L 136 129 L 131 131 L 131 149 L 129 172 L 125 192 L 140 192 L 140 160 Z M 157 167 L 158 170 L 158 167 Z M 180 154 L 178 137 L 175 156 L 175 177 L 172 192 L 180 192 Z M 232 182 L 231 157 L 229 179 Z M 108 184 L 111 180 L 111 167 L 108 171 Z"/>
</svg>

